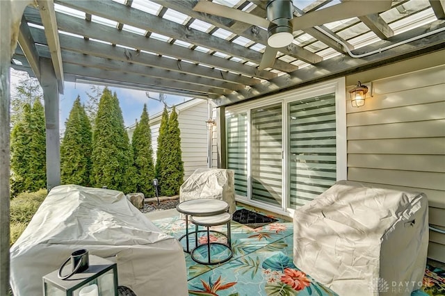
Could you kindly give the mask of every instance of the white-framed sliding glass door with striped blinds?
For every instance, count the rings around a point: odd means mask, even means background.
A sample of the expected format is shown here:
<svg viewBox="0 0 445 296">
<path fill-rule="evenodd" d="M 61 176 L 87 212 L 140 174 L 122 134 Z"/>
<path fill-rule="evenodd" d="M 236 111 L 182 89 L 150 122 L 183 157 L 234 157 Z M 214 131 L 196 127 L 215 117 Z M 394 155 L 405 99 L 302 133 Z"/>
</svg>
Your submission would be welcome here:
<svg viewBox="0 0 445 296">
<path fill-rule="evenodd" d="M 292 213 L 346 179 L 344 81 L 227 108 L 227 167 L 238 199 Z"/>
</svg>

